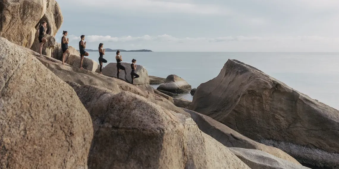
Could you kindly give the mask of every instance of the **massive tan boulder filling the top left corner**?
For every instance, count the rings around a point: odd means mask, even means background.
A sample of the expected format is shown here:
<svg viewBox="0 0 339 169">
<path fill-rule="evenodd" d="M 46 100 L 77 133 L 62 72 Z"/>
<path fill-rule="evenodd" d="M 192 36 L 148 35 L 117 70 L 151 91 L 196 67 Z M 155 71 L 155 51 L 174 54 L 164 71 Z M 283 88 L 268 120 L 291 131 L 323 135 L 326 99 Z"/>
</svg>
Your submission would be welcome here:
<svg viewBox="0 0 339 169">
<path fill-rule="evenodd" d="M 45 11 L 45 0 L 0 0 L 0 36 L 31 48 L 37 31 L 35 26 Z"/>
</svg>

